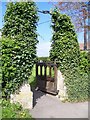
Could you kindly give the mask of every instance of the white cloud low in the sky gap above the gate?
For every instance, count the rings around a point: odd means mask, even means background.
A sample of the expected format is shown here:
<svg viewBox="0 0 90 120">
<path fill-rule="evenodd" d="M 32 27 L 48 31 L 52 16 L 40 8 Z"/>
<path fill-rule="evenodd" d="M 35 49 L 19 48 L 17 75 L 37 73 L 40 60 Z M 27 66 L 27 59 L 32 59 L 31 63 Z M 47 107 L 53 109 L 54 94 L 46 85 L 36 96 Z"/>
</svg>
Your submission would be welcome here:
<svg viewBox="0 0 90 120">
<path fill-rule="evenodd" d="M 37 56 L 45 57 L 49 56 L 51 43 L 50 42 L 39 42 L 37 45 Z"/>
</svg>

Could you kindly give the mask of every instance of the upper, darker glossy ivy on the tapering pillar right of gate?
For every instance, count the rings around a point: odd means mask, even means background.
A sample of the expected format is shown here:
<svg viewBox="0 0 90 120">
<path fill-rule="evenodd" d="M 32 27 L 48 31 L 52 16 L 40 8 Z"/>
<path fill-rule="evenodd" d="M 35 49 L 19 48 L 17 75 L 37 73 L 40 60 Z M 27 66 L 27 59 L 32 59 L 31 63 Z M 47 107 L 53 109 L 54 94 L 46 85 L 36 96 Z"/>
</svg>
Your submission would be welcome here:
<svg viewBox="0 0 90 120">
<path fill-rule="evenodd" d="M 51 60 L 58 61 L 62 71 L 78 66 L 80 50 L 70 18 L 67 15 L 60 14 L 56 9 L 52 13 L 52 23 Z"/>
</svg>

